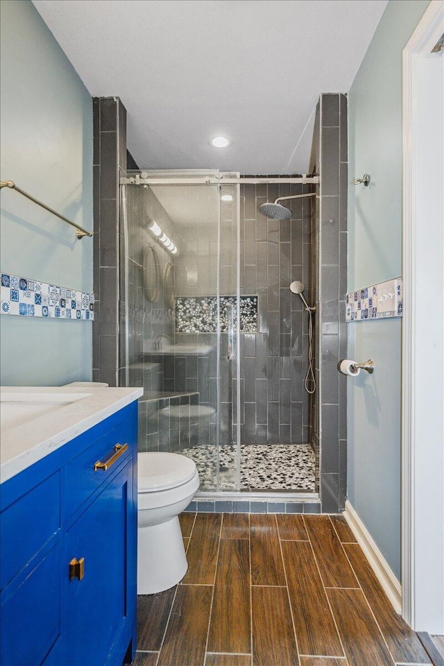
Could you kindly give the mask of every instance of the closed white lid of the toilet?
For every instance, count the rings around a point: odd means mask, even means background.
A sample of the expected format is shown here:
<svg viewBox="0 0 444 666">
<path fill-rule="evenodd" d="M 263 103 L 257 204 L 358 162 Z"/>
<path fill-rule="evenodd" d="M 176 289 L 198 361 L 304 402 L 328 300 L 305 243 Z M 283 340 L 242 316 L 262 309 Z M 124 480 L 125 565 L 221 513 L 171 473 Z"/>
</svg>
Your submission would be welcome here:
<svg viewBox="0 0 444 666">
<path fill-rule="evenodd" d="M 139 453 L 139 490 L 167 490 L 185 484 L 196 474 L 196 463 L 177 453 Z"/>
</svg>

